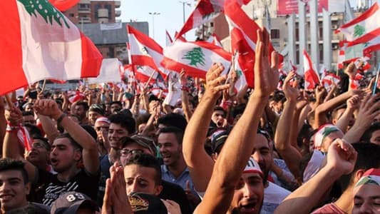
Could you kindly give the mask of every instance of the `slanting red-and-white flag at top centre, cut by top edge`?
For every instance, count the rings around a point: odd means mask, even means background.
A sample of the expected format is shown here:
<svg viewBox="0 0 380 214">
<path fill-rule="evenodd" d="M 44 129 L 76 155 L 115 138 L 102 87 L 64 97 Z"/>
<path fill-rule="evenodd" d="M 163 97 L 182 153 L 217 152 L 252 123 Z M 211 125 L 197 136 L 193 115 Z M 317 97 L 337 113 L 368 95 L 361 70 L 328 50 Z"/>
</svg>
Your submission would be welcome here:
<svg viewBox="0 0 380 214">
<path fill-rule="evenodd" d="M 223 11 L 225 0 L 200 0 L 194 11 L 188 17 L 182 29 L 175 35 L 175 40 L 191 29 L 195 29 L 202 24 L 212 21 Z"/>
</svg>

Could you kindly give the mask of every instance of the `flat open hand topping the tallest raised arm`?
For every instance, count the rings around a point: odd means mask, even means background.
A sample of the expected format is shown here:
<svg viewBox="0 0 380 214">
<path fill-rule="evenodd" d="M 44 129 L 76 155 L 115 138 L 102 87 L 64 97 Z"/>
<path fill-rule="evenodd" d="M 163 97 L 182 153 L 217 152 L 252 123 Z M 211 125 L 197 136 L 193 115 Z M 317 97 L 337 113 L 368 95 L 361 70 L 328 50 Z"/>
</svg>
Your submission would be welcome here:
<svg viewBox="0 0 380 214">
<path fill-rule="evenodd" d="M 269 54 L 272 60 L 270 63 Z M 279 81 L 278 54 L 274 51 L 269 53 L 269 34 L 265 29 L 257 30 L 254 73 L 255 91 L 252 95 L 269 96 Z"/>
</svg>

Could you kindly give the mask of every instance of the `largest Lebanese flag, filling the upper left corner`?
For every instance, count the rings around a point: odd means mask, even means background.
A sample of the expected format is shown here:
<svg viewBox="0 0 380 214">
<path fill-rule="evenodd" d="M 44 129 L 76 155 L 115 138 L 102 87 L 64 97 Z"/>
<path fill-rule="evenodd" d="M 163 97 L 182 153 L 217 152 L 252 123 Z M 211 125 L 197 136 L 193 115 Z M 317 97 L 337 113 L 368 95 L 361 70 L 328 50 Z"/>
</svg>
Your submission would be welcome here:
<svg viewBox="0 0 380 214">
<path fill-rule="evenodd" d="M 47 1 L 36 2 L 0 1 L 0 94 L 99 74 L 102 56 L 91 40 Z"/>
</svg>

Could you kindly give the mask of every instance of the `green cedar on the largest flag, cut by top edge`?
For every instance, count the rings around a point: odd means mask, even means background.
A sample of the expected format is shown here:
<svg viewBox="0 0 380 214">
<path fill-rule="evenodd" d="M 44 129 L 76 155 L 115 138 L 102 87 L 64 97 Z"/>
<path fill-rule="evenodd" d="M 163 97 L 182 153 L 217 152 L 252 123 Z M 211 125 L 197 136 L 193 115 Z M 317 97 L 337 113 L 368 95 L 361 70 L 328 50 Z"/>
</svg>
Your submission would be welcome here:
<svg viewBox="0 0 380 214">
<path fill-rule="evenodd" d="M 69 29 L 65 16 L 61 14 L 60 11 L 55 9 L 48 0 L 18 0 L 21 4 L 24 4 L 26 11 L 28 14 L 33 14 L 37 17 L 37 14 L 40 14 L 47 24 L 53 24 L 53 20 L 56 21 L 59 26 L 62 26 L 62 21 Z"/>
</svg>

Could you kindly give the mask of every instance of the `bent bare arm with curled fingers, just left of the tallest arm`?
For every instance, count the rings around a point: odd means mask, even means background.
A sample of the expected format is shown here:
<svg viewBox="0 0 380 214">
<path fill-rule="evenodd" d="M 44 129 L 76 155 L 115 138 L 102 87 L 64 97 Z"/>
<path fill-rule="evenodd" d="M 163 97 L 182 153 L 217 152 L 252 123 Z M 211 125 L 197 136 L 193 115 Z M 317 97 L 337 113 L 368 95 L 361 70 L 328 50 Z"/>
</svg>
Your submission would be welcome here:
<svg viewBox="0 0 380 214">
<path fill-rule="evenodd" d="M 200 192 L 206 190 L 214 166 L 214 161 L 205 151 L 205 141 L 220 91 L 228 88 L 228 85 L 222 84 L 226 79 L 225 76 L 220 76 L 223 70 L 223 66 L 218 63 L 207 71 L 205 94 L 195 108 L 183 136 L 183 157 L 190 170 L 195 189 Z"/>
</svg>

